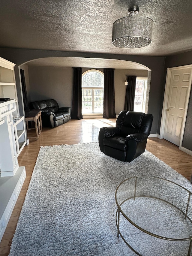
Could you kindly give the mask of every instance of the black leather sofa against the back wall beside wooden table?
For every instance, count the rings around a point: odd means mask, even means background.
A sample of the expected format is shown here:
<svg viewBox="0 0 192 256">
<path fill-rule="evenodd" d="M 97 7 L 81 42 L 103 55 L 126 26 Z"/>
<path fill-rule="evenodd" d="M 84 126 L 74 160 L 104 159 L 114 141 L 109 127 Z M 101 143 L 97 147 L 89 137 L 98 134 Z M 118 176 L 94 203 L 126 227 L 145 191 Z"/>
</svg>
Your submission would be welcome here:
<svg viewBox="0 0 192 256">
<path fill-rule="evenodd" d="M 30 109 L 41 109 L 42 126 L 56 127 L 70 120 L 70 107 L 59 107 L 57 101 L 43 100 L 30 103 Z"/>
</svg>

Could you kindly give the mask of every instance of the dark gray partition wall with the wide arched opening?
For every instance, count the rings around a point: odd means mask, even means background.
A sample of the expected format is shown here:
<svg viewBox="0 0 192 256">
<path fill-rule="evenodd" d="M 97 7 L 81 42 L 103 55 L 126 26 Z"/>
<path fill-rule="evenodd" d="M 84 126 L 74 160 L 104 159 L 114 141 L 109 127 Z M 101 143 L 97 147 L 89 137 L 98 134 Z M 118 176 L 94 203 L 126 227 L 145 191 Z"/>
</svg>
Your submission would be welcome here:
<svg viewBox="0 0 192 256">
<path fill-rule="evenodd" d="M 21 115 L 25 115 L 22 103 L 22 89 L 19 78 L 19 66 L 26 62 L 46 57 L 82 57 L 82 58 L 101 58 L 101 59 L 119 59 L 140 63 L 151 69 L 151 85 L 149 93 L 148 112 L 154 116 L 151 133 L 155 134 L 158 131 L 159 112 L 161 105 L 161 93 L 164 74 L 164 57 L 155 56 L 135 56 L 122 54 L 103 54 L 103 53 L 80 53 L 80 52 L 61 52 L 61 51 L 46 51 L 46 50 L 23 50 L 0 48 L 0 56 L 16 64 L 15 77 L 18 93 L 19 111 Z M 162 109 L 161 109 L 162 110 Z"/>
</svg>

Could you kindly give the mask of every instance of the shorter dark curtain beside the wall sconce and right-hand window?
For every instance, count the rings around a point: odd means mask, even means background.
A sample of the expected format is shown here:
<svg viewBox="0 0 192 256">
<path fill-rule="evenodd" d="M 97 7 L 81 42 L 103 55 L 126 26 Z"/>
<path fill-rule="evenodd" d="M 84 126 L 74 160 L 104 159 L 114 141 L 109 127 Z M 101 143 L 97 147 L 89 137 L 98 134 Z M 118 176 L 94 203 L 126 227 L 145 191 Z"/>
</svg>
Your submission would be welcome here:
<svg viewBox="0 0 192 256">
<path fill-rule="evenodd" d="M 128 85 L 125 95 L 125 107 L 124 110 L 133 111 L 135 101 L 135 86 L 137 77 L 127 77 Z"/>
</svg>

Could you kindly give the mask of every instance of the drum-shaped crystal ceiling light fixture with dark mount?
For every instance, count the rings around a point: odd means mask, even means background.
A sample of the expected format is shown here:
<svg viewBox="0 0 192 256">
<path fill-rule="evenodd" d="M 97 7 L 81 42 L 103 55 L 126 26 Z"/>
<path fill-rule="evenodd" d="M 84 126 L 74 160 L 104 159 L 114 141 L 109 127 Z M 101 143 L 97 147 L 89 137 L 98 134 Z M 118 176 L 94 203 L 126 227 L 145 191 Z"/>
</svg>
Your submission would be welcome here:
<svg viewBox="0 0 192 256">
<path fill-rule="evenodd" d="M 140 48 L 152 43 L 153 20 L 137 16 L 139 7 L 128 10 L 128 17 L 113 23 L 112 44 L 119 48 Z"/>
</svg>

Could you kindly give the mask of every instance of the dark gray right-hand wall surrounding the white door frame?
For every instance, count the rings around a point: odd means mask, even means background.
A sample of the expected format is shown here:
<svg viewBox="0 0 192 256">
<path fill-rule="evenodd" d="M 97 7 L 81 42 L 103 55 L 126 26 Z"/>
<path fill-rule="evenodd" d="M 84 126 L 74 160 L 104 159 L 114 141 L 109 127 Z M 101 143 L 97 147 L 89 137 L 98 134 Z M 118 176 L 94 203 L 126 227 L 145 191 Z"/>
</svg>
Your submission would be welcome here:
<svg viewBox="0 0 192 256">
<path fill-rule="evenodd" d="M 167 74 L 166 69 L 189 65 L 189 64 L 192 64 L 192 51 L 166 57 L 165 69 L 164 69 L 164 88 L 162 91 L 161 106 L 163 105 L 163 97 L 164 97 L 166 74 Z M 161 114 L 162 114 L 162 107 L 161 107 L 160 117 L 161 117 Z M 161 122 L 159 121 L 158 130 L 160 130 L 160 125 L 161 125 Z M 192 90 L 190 92 L 189 106 L 187 111 L 187 119 L 186 119 L 186 124 L 184 129 L 182 146 L 192 151 Z"/>
</svg>

